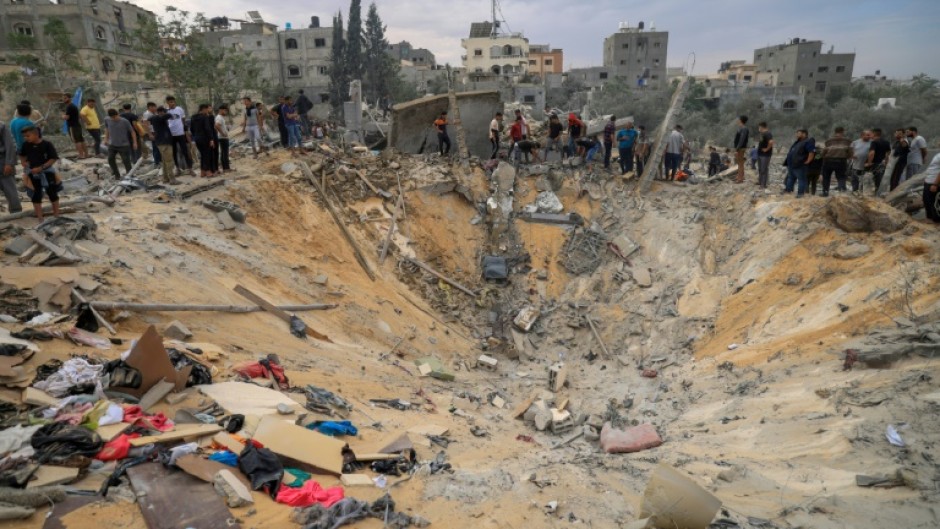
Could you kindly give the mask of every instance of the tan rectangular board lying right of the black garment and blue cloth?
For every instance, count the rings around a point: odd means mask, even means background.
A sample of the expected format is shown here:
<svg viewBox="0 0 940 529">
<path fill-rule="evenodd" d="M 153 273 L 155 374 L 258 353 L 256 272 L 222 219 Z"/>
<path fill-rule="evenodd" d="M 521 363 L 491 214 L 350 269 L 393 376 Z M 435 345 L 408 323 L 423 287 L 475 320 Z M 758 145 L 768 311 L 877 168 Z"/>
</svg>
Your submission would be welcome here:
<svg viewBox="0 0 940 529">
<path fill-rule="evenodd" d="M 346 443 L 280 417 L 263 417 L 254 439 L 275 454 L 309 466 L 314 471 L 336 476 L 343 473 L 342 452 Z"/>
</svg>

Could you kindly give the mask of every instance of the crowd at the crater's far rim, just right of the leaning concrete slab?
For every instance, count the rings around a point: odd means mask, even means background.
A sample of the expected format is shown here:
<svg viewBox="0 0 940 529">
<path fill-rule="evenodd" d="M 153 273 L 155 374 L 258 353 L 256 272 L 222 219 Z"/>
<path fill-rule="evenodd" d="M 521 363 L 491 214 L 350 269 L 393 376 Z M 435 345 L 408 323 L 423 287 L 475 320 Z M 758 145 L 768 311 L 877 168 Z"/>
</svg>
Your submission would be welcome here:
<svg viewBox="0 0 940 529">
<path fill-rule="evenodd" d="M 618 153 L 618 167 L 620 174 L 624 175 L 636 171 L 642 173 L 644 165 L 652 153 L 646 127 L 635 127 L 632 121 L 617 125 L 617 117 L 610 116 L 600 134 L 588 134 L 588 127 L 574 112 L 569 113 L 565 123 L 557 111 L 545 109 L 547 123 L 544 132 L 532 134 L 529 124 L 521 110 L 515 110 L 512 123 L 508 130 L 502 112 L 497 112 L 490 121 L 489 140 L 492 147 L 490 159 L 495 160 L 501 156 L 502 145 L 508 143 L 505 156 L 513 162 L 541 163 L 548 160 L 550 153 L 556 153 L 564 162 L 579 158 L 588 170 L 594 169 L 595 159 L 603 155 L 603 167 L 607 171 L 611 168 L 612 154 L 616 144 Z M 440 154 L 450 152 L 450 139 L 447 136 L 447 113 L 434 122 L 438 133 Z M 446 148 L 445 148 L 446 147 Z"/>
</svg>

